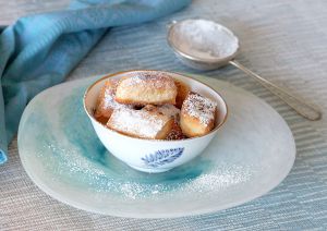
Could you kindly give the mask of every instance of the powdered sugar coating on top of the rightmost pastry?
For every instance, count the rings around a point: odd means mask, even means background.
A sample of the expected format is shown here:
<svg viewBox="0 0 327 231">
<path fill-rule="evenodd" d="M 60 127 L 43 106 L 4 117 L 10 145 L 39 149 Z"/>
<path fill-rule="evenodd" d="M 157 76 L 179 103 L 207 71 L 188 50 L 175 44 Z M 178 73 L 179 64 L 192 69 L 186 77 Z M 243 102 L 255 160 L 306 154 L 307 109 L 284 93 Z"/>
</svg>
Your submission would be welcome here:
<svg viewBox="0 0 327 231">
<path fill-rule="evenodd" d="M 208 125 L 215 120 L 217 104 L 197 93 L 190 93 L 182 106 L 182 113 L 196 118 L 203 125 Z"/>
</svg>

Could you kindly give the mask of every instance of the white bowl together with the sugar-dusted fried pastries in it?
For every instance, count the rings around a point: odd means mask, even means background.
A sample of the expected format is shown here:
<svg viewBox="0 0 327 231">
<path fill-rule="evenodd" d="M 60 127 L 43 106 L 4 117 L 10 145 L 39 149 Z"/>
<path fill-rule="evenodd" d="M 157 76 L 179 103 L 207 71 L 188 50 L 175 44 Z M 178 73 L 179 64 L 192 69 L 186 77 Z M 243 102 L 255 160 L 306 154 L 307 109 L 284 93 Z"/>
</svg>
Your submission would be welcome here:
<svg viewBox="0 0 327 231">
<path fill-rule="evenodd" d="M 133 108 L 114 108 L 104 125 L 94 112 L 109 78 L 119 81 L 114 99 Z M 173 105 L 178 82 L 192 92 L 182 94 L 181 110 Z M 96 81 L 85 93 L 84 108 L 108 155 L 144 172 L 165 172 L 201 155 L 228 115 L 225 100 L 209 86 L 178 73 L 149 70 L 114 73 Z"/>
</svg>

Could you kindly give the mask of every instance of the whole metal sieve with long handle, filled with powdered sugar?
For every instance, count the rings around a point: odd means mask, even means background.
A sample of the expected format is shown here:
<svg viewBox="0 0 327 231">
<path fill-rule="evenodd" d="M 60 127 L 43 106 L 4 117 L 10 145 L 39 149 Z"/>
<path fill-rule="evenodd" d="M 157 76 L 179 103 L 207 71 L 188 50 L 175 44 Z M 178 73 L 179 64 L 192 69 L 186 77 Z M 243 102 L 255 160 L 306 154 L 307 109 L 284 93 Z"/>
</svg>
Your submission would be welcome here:
<svg viewBox="0 0 327 231">
<path fill-rule="evenodd" d="M 207 20 L 173 21 L 169 25 L 167 40 L 178 58 L 187 66 L 197 70 L 214 70 L 231 64 L 258 81 L 300 115 L 311 121 L 322 118 L 318 108 L 235 61 L 234 58 L 240 50 L 239 39 L 225 26 Z"/>
</svg>

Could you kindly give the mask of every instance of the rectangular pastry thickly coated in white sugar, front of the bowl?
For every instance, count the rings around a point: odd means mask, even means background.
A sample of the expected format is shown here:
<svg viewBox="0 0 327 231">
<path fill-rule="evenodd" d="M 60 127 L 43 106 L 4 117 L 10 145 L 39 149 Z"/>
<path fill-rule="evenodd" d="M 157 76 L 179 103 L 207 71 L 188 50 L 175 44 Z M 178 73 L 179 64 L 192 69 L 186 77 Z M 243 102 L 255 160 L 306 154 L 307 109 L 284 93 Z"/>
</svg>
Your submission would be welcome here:
<svg viewBox="0 0 327 231">
<path fill-rule="evenodd" d="M 114 109 L 107 126 L 122 134 L 149 139 L 165 139 L 171 131 L 173 119 L 156 111 Z"/>
</svg>

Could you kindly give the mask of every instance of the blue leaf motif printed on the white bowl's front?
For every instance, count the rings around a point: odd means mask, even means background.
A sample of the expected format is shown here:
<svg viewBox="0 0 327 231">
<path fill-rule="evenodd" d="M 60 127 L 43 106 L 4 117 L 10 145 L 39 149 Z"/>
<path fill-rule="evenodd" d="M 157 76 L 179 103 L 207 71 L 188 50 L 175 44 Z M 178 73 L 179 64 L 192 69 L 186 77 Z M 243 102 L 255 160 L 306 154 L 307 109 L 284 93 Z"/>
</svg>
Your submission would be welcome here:
<svg viewBox="0 0 327 231">
<path fill-rule="evenodd" d="M 154 154 L 145 155 L 141 159 L 144 161 L 146 166 L 157 168 L 173 162 L 175 159 L 182 156 L 183 151 L 184 151 L 183 147 L 162 149 L 162 150 L 157 150 Z"/>
</svg>

